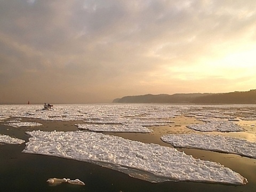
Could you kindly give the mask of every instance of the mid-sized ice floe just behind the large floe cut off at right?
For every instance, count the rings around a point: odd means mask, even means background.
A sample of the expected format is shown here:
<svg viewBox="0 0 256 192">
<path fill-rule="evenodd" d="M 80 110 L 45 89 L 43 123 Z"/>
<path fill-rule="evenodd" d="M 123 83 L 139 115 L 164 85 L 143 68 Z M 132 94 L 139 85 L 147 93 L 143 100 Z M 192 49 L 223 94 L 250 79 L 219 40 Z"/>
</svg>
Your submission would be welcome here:
<svg viewBox="0 0 256 192">
<path fill-rule="evenodd" d="M 220 131 L 220 132 L 237 132 L 245 131 L 245 129 L 234 122 L 219 119 L 199 119 L 206 123 L 187 125 L 189 129 L 196 131 Z"/>
</svg>

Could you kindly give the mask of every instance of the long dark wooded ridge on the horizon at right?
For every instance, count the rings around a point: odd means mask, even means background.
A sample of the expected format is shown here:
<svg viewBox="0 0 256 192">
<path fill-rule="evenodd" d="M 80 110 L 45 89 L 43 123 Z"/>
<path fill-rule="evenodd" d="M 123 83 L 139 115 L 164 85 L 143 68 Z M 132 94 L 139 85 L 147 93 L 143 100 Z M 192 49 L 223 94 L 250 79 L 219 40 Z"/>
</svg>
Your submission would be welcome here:
<svg viewBox="0 0 256 192">
<path fill-rule="evenodd" d="M 237 103 L 256 104 L 256 90 L 230 93 L 177 93 L 125 96 L 114 103 Z"/>
</svg>

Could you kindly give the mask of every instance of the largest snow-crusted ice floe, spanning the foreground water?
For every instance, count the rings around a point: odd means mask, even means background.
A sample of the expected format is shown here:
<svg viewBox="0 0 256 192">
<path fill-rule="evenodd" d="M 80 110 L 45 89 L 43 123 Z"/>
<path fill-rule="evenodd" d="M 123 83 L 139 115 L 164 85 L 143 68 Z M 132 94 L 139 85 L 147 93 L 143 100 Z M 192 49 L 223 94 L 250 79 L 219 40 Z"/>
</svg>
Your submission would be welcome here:
<svg viewBox="0 0 256 192">
<path fill-rule="evenodd" d="M 43 154 L 98 164 L 151 182 L 197 181 L 243 185 L 240 174 L 171 147 L 94 132 L 26 132 L 23 153 Z"/>
</svg>

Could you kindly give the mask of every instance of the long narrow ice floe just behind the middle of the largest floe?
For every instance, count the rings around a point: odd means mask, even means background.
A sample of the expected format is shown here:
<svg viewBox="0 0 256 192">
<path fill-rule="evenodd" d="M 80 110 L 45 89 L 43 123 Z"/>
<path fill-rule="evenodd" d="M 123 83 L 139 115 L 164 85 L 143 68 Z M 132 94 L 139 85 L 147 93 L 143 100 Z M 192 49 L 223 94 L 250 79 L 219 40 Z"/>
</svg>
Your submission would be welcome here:
<svg viewBox="0 0 256 192">
<path fill-rule="evenodd" d="M 109 125 L 109 124 L 76 124 L 80 130 L 89 130 L 94 132 L 140 132 L 152 133 L 150 130 L 141 125 Z"/>
</svg>

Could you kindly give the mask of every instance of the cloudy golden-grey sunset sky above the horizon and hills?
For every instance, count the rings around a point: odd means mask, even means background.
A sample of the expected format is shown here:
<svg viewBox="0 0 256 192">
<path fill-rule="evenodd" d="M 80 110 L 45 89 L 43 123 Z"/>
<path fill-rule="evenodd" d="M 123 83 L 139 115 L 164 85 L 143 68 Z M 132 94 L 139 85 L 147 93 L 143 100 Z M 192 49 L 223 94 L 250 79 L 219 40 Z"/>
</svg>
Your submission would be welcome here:
<svg viewBox="0 0 256 192">
<path fill-rule="evenodd" d="M 0 103 L 256 87 L 255 0 L 0 0 Z"/>
</svg>

